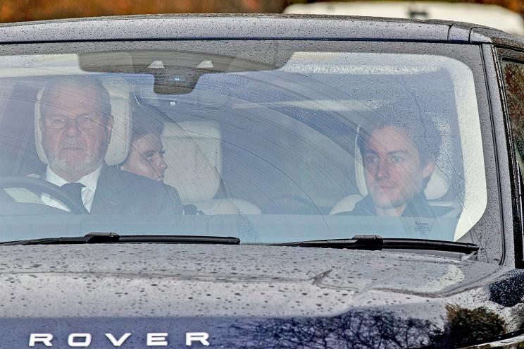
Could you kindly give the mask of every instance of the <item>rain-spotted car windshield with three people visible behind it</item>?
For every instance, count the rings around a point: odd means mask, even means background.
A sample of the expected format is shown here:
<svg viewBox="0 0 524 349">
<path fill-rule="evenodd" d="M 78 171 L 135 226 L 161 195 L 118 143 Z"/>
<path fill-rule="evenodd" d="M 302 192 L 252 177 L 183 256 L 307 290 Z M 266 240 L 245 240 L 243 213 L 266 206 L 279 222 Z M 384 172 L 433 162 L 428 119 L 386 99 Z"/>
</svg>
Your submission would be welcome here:
<svg viewBox="0 0 524 349">
<path fill-rule="evenodd" d="M 0 56 L 1 241 L 460 241 L 485 214 L 462 61 L 311 42 L 71 47 Z"/>
</svg>

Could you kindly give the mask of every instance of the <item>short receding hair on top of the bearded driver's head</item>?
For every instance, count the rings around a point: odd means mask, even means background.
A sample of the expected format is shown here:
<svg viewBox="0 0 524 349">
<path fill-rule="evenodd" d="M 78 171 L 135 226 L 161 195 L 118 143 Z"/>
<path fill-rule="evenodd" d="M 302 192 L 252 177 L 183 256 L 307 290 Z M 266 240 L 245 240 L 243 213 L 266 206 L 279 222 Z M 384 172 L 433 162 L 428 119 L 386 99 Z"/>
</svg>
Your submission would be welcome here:
<svg viewBox="0 0 524 349">
<path fill-rule="evenodd" d="M 98 78 L 90 75 L 64 75 L 49 78 L 42 92 L 42 96 L 40 97 L 40 116 L 45 116 L 45 107 L 49 105 L 49 102 L 46 101 L 49 101 L 50 97 L 54 95 L 54 90 L 58 87 L 62 87 L 63 85 L 74 85 L 78 86 L 79 88 L 91 87 L 97 93 L 99 93 L 100 98 L 97 99 L 97 101 L 100 102 L 99 111 L 101 111 L 102 116 L 105 118 L 109 118 L 111 116 L 111 97 L 109 92 Z M 75 96 L 75 92 L 75 90 L 71 90 L 66 96 L 61 97 L 73 97 Z"/>
</svg>

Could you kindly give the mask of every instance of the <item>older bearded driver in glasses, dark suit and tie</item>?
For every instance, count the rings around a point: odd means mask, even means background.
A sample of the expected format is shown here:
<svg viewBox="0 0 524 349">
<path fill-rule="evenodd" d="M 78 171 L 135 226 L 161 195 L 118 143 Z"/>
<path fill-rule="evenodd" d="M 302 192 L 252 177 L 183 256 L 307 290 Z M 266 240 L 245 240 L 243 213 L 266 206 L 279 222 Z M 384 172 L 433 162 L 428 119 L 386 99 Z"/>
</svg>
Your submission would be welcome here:
<svg viewBox="0 0 524 349">
<path fill-rule="evenodd" d="M 110 97 L 93 78 L 52 80 L 40 102 L 44 179 L 62 187 L 91 214 L 180 214 L 178 195 L 164 185 L 104 162 L 113 128 Z M 42 194 L 42 201 L 64 209 Z"/>
</svg>

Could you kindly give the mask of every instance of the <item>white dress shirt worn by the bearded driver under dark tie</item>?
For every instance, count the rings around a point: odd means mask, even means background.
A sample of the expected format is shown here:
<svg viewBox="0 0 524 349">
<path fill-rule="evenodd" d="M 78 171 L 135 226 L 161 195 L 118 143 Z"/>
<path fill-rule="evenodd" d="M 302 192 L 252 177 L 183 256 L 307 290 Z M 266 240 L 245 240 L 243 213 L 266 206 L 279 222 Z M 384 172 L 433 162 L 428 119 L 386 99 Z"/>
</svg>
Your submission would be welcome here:
<svg viewBox="0 0 524 349">
<path fill-rule="evenodd" d="M 91 206 L 93 204 L 94 199 L 94 192 L 96 190 L 96 183 L 98 183 L 98 179 L 100 177 L 100 171 L 102 170 L 102 165 L 100 165 L 96 170 L 94 170 L 92 173 L 89 173 L 79 180 L 77 180 L 75 183 L 82 183 L 84 185 L 84 188 L 82 188 L 82 202 L 84 203 L 85 209 L 87 209 L 88 212 L 91 212 Z M 68 183 L 67 180 L 63 179 L 61 176 L 58 176 L 56 173 L 47 166 L 46 170 L 46 180 L 48 182 L 51 182 L 55 185 L 58 185 L 58 187 L 61 187 L 62 185 Z M 41 196 L 42 202 L 44 204 L 47 204 L 49 206 L 56 207 L 58 209 L 64 209 L 66 211 L 69 211 L 69 209 L 64 206 L 61 202 L 58 200 L 55 200 L 53 197 L 49 196 L 48 194 L 42 192 Z"/>
</svg>

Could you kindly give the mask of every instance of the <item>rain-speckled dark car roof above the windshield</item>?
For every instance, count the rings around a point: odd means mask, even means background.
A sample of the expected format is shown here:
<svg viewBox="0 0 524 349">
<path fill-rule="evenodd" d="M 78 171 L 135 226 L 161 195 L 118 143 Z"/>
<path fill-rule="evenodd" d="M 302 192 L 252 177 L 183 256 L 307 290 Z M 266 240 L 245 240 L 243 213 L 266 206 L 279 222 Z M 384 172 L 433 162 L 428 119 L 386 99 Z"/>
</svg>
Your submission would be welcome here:
<svg viewBox="0 0 524 349">
<path fill-rule="evenodd" d="M 0 25 L 0 43 L 127 39 L 348 39 L 492 43 L 524 38 L 472 23 L 355 16 L 185 14 L 43 20 Z"/>
</svg>

